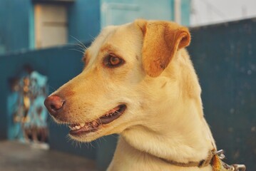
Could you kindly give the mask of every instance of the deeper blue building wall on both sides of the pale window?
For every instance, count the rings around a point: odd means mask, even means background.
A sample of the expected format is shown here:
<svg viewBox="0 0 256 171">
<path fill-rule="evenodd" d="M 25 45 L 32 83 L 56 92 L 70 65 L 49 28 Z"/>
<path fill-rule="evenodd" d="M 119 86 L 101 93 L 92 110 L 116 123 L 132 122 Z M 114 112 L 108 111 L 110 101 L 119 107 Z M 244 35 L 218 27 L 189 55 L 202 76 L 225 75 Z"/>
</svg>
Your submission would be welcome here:
<svg viewBox="0 0 256 171">
<path fill-rule="evenodd" d="M 48 2 L 51 4 L 51 2 Z M 61 2 L 59 2 L 61 4 Z M 100 31 L 99 0 L 68 3 L 68 43 L 91 41 Z M 71 36 L 75 37 L 72 38 Z M 32 0 L 0 1 L 0 54 L 34 48 Z"/>
</svg>

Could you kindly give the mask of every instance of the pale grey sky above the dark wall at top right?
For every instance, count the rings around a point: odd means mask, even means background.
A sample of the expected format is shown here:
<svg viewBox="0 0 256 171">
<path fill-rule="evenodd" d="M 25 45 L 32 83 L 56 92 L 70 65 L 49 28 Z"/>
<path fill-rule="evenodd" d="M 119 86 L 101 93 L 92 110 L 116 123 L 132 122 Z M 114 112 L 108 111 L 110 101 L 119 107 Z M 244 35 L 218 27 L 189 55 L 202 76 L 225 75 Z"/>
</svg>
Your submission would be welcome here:
<svg viewBox="0 0 256 171">
<path fill-rule="evenodd" d="M 256 0 L 191 1 L 191 26 L 256 17 Z"/>
</svg>

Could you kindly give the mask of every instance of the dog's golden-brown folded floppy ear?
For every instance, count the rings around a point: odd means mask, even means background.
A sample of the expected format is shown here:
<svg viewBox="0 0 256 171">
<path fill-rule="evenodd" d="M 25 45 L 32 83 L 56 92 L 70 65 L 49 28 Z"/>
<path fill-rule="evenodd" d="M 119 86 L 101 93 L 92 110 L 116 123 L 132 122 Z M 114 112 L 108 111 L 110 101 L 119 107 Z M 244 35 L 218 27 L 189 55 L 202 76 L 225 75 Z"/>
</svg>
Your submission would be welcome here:
<svg viewBox="0 0 256 171">
<path fill-rule="evenodd" d="M 145 72 L 157 77 L 168 66 L 176 51 L 188 46 L 188 28 L 167 21 L 136 20 L 143 32 L 142 61 Z"/>
</svg>

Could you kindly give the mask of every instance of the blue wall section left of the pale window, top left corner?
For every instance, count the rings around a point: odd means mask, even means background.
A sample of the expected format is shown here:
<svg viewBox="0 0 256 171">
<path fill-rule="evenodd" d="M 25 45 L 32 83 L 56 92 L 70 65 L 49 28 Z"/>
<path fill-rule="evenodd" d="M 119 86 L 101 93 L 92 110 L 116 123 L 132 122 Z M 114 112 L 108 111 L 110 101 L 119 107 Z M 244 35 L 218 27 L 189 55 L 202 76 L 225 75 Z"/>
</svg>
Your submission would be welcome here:
<svg viewBox="0 0 256 171">
<path fill-rule="evenodd" d="M 28 0 L 0 1 L 0 46 L 5 51 L 29 48 L 31 7 Z"/>
</svg>

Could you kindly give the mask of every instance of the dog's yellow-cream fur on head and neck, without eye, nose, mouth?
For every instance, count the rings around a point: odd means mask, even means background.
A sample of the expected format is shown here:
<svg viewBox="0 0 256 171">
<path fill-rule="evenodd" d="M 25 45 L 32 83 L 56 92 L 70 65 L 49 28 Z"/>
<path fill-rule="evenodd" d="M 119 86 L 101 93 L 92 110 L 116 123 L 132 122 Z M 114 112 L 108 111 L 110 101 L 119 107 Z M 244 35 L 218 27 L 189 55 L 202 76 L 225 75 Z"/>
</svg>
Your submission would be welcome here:
<svg viewBox="0 0 256 171">
<path fill-rule="evenodd" d="M 215 147 L 198 77 L 185 50 L 189 43 L 188 28 L 167 21 L 104 28 L 85 52 L 82 73 L 53 93 L 66 100 L 56 121 L 96 120 L 124 103 L 120 118 L 71 138 L 88 142 L 119 133 L 108 170 L 212 170 L 210 165 L 179 167 L 160 160 L 199 162 Z M 109 53 L 125 63 L 104 66 Z"/>
</svg>

